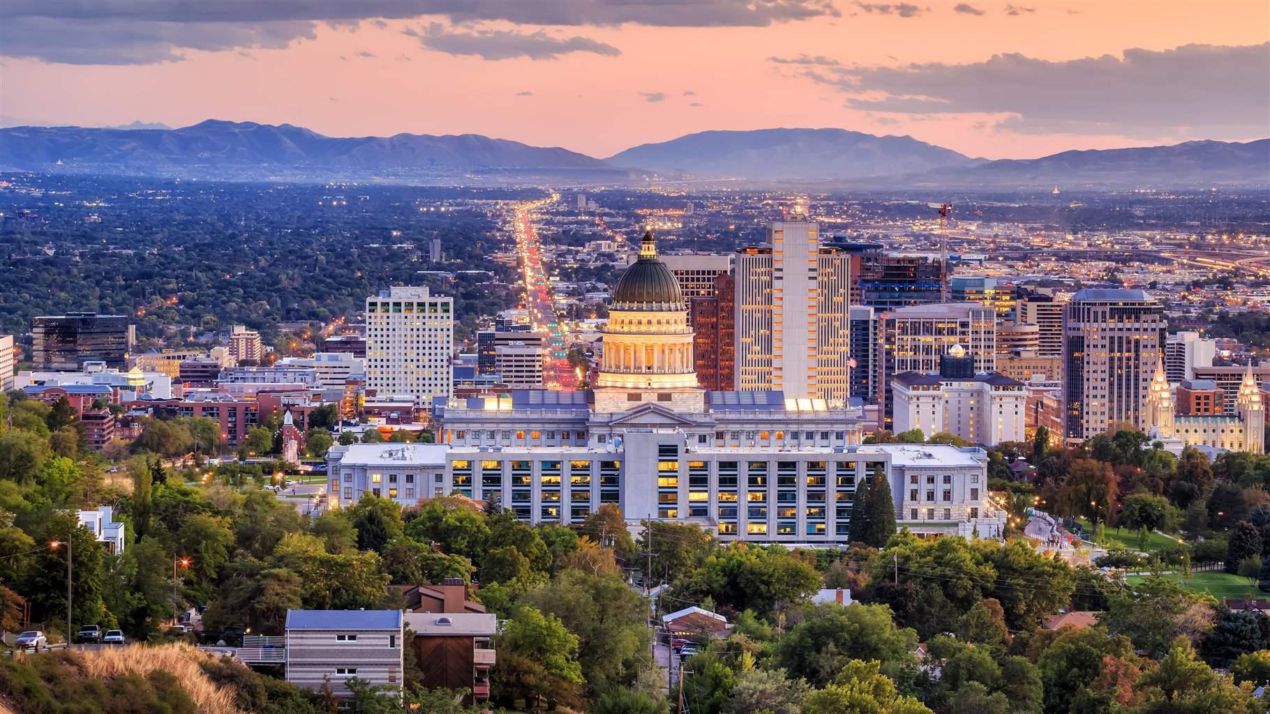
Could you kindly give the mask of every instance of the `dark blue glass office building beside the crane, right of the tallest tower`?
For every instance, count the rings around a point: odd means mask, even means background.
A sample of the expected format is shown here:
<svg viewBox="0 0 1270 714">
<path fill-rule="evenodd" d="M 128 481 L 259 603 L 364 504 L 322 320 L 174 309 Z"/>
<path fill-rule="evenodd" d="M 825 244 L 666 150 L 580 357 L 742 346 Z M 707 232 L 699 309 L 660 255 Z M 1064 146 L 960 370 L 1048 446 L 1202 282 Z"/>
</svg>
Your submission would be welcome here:
<svg viewBox="0 0 1270 714">
<path fill-rule="evenodd" d="M 867 246 L 866 246 L 867 247 Z M 944 266 L 939 259 L 884 255 L 867 247 L 856 255 L 851 278 L 852 304 L 881 309 L 930 304 L 944 299 Z"/>
</svg>

